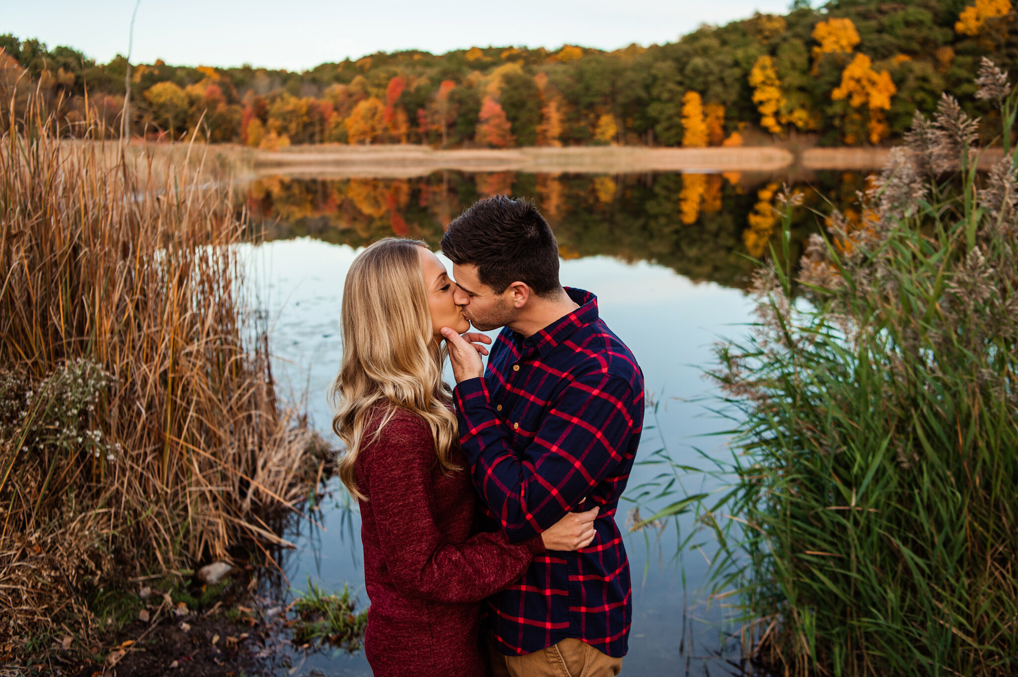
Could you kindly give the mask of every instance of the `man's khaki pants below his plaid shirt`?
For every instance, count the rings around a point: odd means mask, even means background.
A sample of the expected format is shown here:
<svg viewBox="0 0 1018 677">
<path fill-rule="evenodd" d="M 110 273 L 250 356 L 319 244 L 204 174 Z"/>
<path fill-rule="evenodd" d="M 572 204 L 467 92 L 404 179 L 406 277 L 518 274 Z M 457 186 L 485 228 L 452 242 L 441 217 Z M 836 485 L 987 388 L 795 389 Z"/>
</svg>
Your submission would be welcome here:
<svg viewBox="0 0 1018 677">
<path fill-rule="evenodd" d="M 503 656 L 489 633 L 488 654 L 493 677 L 615 677 L 622 670 L 622 659 L 572 638 L 526 656 Z"/>
</svg>

